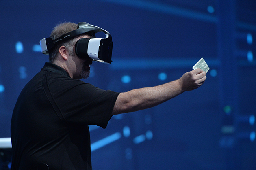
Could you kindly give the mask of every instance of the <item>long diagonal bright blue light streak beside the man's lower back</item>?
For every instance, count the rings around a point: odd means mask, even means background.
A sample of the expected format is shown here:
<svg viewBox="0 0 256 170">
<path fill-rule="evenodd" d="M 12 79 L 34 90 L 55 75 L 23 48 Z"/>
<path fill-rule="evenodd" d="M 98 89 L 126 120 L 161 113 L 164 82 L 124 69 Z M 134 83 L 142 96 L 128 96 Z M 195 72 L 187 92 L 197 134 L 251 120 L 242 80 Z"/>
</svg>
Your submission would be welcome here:
<svg viewBox="0 0 256 170">
<path fill-rule="evenodd" d="M 121 133 L 116 132 L 115 134 L 112 134 L 106 138 L 98 140 L 97 142 L 94 142 L 93 144 L 91 144 L 91 151 L 95 151 L 97 149 L 100 149 L 106 146 L 107 144 L 115 142 L 116 140 L 119 140 L 121 136 L 122 136 Z"/>
</svg>

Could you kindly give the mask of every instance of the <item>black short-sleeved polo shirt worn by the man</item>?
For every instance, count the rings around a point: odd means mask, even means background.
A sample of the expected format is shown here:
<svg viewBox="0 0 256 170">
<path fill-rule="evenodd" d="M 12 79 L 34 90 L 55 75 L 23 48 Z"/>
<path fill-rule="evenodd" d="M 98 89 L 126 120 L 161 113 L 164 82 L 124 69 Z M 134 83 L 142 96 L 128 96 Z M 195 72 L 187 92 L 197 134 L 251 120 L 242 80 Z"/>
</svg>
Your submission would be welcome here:
<svg viewBox="0 0 256 170">
<path fill-rule="evenodd" d="M 46 63 L 13 110 L 12 170 L 39 163 L 50 170 L 91 170 L 88 125 L 106 128 L 118 94 L 72 79 L 63 68 Z"/>
</svg>

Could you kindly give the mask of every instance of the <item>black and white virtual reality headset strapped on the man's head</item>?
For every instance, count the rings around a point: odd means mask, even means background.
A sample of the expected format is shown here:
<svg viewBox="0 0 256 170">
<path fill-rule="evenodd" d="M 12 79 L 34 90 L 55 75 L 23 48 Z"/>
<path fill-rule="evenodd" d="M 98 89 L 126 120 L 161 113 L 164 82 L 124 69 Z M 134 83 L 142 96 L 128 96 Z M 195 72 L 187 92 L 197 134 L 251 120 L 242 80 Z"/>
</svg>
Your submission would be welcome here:
<svg viewBox="0 0 256 170">
<path fill-rule="evenodd" d="M 104 32 L 105 38 L 96 38 L 95 33 Z M 78 29 L 63 34 L 57 39 L 43 38 L 40 41 L 41 51 L 43 54 L 49 54 L 49 50 L 53 49 L 57 43 L 70 40 L 81 34 L 88 33 L 93 35 L 93 38 L 81 38 L 76 42 L 75 52 L 78 57 L 90 57 L 94 61 L 111 64 L 113 42 L 112 37 L 106 30 L 100 27 L 90 25 L 86 22 L 78 23 Z"/>
</svg>

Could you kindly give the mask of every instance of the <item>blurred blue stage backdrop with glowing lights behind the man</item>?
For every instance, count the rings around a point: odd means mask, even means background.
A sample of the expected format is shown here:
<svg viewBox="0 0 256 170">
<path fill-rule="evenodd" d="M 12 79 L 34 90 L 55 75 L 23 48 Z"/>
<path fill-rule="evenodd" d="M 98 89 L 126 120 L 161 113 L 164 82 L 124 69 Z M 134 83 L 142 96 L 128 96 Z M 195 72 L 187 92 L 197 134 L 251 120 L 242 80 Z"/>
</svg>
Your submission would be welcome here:
<svg viewBox="0 0 256 170">
<path fill-rule="evenodd" d="M 255 0 L 1 0 L 0 14 L 0 138 L 48 62 L 39 41 L 59 22 L 83 21 L 113 37 L 113 63 L 94 62 L 83 79 L 102 89 L 167 83 L 201 57 L 210 67 L 199 89 L 90 126 L 94 170 L 256 169 Z"/>
</svg>

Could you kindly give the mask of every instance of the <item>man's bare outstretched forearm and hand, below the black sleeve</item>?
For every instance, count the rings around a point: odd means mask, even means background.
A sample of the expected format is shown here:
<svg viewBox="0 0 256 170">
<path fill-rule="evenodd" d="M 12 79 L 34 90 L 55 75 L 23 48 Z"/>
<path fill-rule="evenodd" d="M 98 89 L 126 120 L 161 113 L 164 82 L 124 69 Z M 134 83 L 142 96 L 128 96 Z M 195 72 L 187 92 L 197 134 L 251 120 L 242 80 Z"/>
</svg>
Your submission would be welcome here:
<svg viewBox="0 0 256 170">
<path fill-rule="evenodd" d="M 134 112 L 151 108 L 182 94 L 184 91 L 197 89 L 206 80 L 206 72 L 196 69 L 186 72 L 180 79 L 158 85 L 133 89 L 120 93 L 115 102 L 112 115 Z"/>
</svg>

